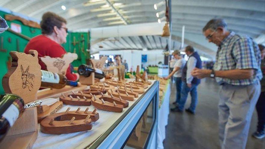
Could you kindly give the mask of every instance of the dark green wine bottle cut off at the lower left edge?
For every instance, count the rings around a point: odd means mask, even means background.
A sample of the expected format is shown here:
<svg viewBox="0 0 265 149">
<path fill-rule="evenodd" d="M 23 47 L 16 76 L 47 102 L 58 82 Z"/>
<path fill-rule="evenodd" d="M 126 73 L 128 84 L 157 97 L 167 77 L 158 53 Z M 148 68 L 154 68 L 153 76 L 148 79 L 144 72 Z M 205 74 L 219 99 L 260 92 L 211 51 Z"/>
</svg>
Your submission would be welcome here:
<svg viewBox="0 0 265 149">
<path fill-rule="evenodd" d="M 0 95 L 0 142 L 23 112 L 24 101 L 14 94 Z"/>
</svg>

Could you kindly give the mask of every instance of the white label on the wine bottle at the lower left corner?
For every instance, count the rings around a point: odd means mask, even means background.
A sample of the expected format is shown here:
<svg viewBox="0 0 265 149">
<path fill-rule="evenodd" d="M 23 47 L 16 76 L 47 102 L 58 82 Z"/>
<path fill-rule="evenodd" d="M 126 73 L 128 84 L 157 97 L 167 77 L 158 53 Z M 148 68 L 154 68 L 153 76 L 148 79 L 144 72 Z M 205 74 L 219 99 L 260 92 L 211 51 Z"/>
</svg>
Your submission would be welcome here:
<svg viewBox="0 0 265 149">
<path fill-rule="evenodd" d="M 8 109 L 3 113 L 5 119 L 9 122 L 10 127 L 14 125 L 19 116 L 19 110 L 14 104 L 11 104 Z"/>
</svg>

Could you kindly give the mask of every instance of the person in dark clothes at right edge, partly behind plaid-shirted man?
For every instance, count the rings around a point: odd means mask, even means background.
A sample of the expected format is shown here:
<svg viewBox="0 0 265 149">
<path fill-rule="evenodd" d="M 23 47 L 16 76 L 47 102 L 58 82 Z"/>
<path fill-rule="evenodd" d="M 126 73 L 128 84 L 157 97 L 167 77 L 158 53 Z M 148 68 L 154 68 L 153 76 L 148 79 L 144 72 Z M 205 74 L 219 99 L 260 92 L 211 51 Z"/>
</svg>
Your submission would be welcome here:
<svg viewBox="0 0 265 149">
<path fill-rule="evenodd" d="M 260 81 L 261 93 L 256 104 L 256 110 L 258 114 L 257 131 L 252 134 L 254 138 L 262 139 L 265 137 L 265 47 L 264 45 L 258 45 L 261 53 L 261 66 L 260 69 L 263 74 L 263 78 Z"/>
</svg>

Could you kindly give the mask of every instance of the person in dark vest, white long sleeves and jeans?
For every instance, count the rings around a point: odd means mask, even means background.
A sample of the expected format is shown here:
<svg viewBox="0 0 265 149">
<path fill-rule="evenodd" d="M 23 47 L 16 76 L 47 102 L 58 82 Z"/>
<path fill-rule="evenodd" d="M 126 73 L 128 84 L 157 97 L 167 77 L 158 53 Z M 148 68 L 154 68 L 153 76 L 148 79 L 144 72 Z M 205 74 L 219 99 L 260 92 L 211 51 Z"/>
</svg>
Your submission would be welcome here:
<svg viewBox="0 0 265 149">
<path fill-rule="evenodd" d="M 189 59 L 182 70 L 182 89 L 180 101 L 179 105 L 171 109 L 171 111 L 182 112 L 188 98 L 188 93 L 190 92 L 192 102 L 186 111 L 195 114 L 196 105 L 198 103 L 197 86 L 200 84 L 201 80 L 193 77 L 191 72 L 195 67 L 201 69 L 201 58 L 200 55 L 194 51 L 194 48 L 190 45 L 185 48 L 185 52 L 189 56 Z"/>
</svg>

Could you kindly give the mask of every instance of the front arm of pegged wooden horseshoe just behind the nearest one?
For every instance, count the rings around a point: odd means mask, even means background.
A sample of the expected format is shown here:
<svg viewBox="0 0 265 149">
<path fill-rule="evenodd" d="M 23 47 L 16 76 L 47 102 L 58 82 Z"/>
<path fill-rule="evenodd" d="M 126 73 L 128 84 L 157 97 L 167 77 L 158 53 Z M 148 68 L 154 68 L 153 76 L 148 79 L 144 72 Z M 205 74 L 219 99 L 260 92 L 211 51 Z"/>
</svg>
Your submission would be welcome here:
<svg viewBox="0 0 265 149">
<path fill-rule="evenodd" d="M 99 99 L 99 97 L 101 97 L 100 95 L 93 95 L 92 99 L 91 99 L 91 104 L 97 108 L 97 109 L 101 109 L 101 110 L 105 110 L 105 111 L 111 111 L 111 112 L 122 112 L 123 111 L 123 105 L 121 104 L 116 104 L 115 101 L 114 102 L 108 102 L 108 101 L 104 101 L 104 99 Z"/>
</svg>

